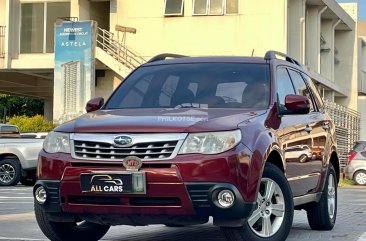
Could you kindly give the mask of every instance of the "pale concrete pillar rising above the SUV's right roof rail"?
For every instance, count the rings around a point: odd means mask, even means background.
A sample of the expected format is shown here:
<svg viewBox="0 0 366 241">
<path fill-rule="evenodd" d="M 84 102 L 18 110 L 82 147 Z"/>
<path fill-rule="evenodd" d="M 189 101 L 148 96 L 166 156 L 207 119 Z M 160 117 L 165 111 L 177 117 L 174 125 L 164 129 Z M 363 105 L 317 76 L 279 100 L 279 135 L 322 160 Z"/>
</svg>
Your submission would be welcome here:
<svg viewBox="0 0 366 241">
<path fill-rule="evenodd" d="M 288 1 L 288 46 L 289 56 L 305 63 L 305 0 Z"/>
</svg>

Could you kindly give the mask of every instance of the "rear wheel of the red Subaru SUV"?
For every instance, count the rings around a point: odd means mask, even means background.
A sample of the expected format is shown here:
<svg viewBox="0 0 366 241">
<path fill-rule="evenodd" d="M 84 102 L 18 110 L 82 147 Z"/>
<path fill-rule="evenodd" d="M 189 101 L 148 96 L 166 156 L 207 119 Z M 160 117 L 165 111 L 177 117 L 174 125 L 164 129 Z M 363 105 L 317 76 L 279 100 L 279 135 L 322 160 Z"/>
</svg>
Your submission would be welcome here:
<svg viewBox="0 0 366 241">
<path fill-rule="evenodd" d="M 337 179 L 334 167 L 329 164 L 320 201 L 306 208 L 308 222 L 313 230 L 332 230 L 337 218 Z"/>
</svg>

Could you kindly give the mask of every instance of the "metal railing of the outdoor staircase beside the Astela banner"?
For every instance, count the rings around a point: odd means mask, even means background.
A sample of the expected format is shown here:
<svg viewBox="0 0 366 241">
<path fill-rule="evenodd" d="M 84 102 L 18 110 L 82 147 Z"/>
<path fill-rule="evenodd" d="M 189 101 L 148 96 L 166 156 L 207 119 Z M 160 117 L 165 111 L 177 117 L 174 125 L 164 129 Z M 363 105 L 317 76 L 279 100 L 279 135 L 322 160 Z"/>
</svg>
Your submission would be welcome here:
<svg viewBox="0 0 366 241">
<path fill-rule="evenodd" d="M 98 28 L 97 46 L 131 70 L 146 62 L 144 58 L 119 42 L 113 33 L 102 28 Z"/>
</svg>

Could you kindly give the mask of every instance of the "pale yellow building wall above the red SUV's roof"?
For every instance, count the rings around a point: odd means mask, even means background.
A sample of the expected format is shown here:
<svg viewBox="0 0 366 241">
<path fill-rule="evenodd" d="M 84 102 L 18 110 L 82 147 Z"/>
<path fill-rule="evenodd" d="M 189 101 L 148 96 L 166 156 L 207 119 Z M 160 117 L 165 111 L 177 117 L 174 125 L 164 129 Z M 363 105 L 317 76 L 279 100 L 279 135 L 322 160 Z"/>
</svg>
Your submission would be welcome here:
<svg viewBox="0 0 366 241">
<path fill-rule="evenodd" d="M 192 2 L 185 1 L 184 17 L 164 17 L 162 0 L 119 0 L 111 24 L 136 28 L 127 45 L 146 58 L 164 52 L 251 55 L 255 49 L 255 55 L 264 56 L 270 49 L 287 51 L 287 0 L 241 0 L 239 14 L 231 16 L 192 16 Z"/>
</svg>

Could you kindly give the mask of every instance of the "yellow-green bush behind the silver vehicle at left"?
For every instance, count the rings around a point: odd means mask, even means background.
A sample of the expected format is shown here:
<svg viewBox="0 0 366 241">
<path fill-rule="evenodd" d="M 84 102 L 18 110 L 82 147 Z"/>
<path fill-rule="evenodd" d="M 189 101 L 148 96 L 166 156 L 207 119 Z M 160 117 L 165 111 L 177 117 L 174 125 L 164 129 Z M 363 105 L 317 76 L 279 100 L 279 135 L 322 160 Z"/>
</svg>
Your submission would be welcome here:
<svg viewBox="0 0 366 241">
<path fill-rule="evenodd" d="M 9 119 L 8 124 L 18 126 L 21 132 L 51 131 L 55 128 L 51 121 L 44 119 L 41 115 L 33 117 L 14 116 Z"/>
</svg>

